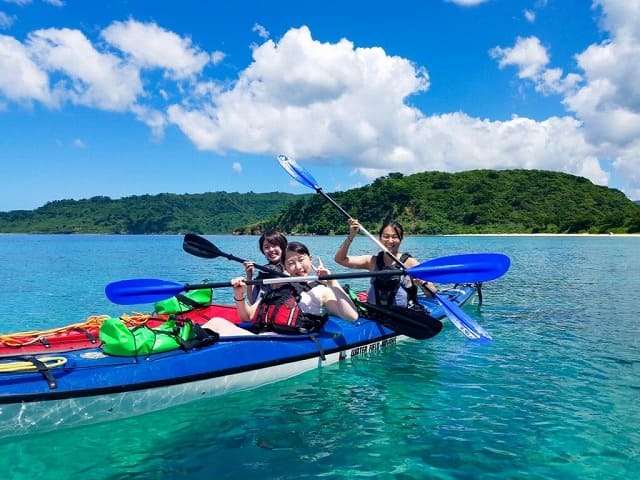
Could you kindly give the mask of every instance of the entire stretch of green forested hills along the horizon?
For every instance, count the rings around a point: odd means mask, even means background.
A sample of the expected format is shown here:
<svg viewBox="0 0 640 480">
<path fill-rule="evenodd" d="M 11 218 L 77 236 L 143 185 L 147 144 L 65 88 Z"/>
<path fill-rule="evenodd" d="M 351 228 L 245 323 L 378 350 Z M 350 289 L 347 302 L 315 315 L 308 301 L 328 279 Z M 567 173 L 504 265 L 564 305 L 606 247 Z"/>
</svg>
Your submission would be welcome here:
<svg viewBox="0 0 640 480">
<path fill-rule="evenodd" d="M 386 219 L 407 234 L 640 233 L 640 205 L 616 189 L 544 170 L 391 173 L 331 197 L 374 231 Z M 57 200 L 0 212 L 0 233 L 288 234 L 347 231 L 313 193 L 159 194 Z"/>
</svg>

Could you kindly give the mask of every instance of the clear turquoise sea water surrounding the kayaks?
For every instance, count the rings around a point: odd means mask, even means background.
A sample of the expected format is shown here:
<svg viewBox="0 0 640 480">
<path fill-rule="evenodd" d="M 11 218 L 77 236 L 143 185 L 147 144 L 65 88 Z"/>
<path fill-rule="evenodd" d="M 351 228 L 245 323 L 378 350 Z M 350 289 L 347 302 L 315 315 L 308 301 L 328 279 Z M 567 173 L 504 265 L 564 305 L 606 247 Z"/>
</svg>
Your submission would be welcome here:
<svg viewBox="0 0 640 480">
<path fill-rule="evenodd" d="M 260 260 L 255 237 L 212 236 Z M 302 239 L 334 272 L 342 240 Z M 227 280 L 242 266 L 184 253 L 180 236 L 0 235 L 0 332 L 110 304 L 135 277 Z M 466 310 L 494 342 L 447 323 L 250 392 L 128 420 L 0 440 L 7 479 L 613 479 L 640 474 L 640 237 L 416 237 L 420 259 L 501 252 L 510 271 Z M 356 240 L 354 252 L 370 252 Z M 352 281 L 356 287 L 366 280 Z M 216 291 L 219 301 L 231 292 Z M 136 306 L 145 311 L 147 306 Z"/>
</svg>

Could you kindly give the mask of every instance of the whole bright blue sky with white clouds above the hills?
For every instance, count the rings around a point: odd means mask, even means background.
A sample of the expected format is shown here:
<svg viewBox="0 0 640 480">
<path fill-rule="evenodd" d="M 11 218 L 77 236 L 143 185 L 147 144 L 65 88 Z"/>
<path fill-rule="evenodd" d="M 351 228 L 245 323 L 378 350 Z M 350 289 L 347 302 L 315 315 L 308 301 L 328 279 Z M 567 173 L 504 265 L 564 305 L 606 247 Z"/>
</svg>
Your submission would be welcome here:
<svg viewBox="0 0 640 480">
<path fill-rule="evenodd" d="M 640 199 L 640 0 L 0 0 L 0 211 L 536 168 Z"/>
</svg>

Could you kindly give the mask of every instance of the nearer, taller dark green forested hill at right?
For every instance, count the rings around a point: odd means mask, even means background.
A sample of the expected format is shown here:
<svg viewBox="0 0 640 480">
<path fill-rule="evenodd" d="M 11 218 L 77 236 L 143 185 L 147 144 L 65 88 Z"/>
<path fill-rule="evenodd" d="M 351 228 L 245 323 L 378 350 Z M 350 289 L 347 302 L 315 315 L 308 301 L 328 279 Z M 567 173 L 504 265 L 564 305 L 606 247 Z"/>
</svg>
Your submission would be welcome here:
<svg viewBox="0 0 640 480">
<path fill-rule="evenodd" d="M 392 173 L 332 198 L 372 229 L 394 218 L 412 234 L 640 232 L 640 206 L 622 192 L 542 170 Z M 320 195 L 297 200 L 276 221 L 287 232 L 347 231 Z"/>
</svg>

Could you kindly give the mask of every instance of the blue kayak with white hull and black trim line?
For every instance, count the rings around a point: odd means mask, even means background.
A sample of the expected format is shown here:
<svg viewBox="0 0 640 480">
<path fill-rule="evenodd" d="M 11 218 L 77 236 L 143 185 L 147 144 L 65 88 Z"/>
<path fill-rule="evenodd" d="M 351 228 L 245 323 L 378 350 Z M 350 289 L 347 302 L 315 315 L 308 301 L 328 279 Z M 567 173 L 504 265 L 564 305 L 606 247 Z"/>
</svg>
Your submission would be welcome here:
<svg viewBox="0 0 640 480">
<path fill-rule="evenodd" d="M 461 285 L 438 295 L 460 306 L 475 293 L 475 286 Z M 437 299 L 420 302 L 431 317 L 445 318 Z M 256 388 L 410 338 L 383 323 L 329 317 L 311 335 L 221 337 L 201 348 L 144 356 L 109 355 L 103 346 L 5 356 L 0 437 L 100 423 Z"/>
</svg>

